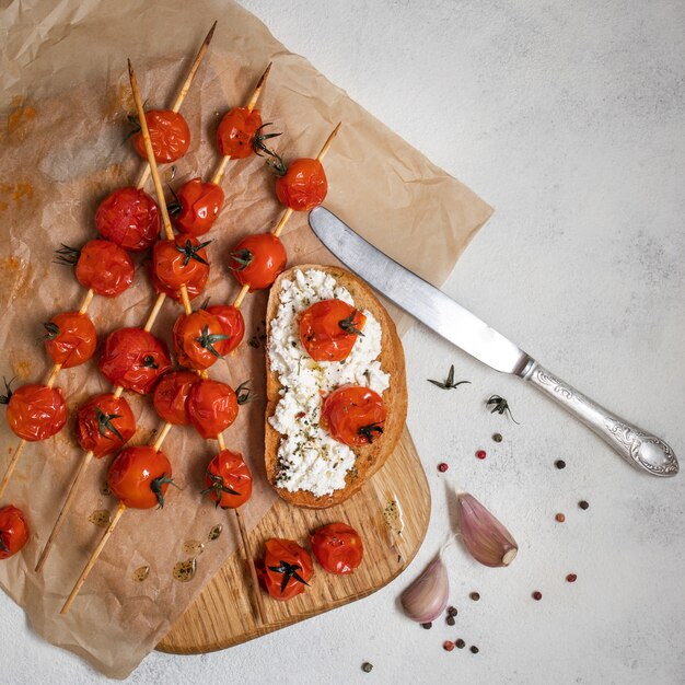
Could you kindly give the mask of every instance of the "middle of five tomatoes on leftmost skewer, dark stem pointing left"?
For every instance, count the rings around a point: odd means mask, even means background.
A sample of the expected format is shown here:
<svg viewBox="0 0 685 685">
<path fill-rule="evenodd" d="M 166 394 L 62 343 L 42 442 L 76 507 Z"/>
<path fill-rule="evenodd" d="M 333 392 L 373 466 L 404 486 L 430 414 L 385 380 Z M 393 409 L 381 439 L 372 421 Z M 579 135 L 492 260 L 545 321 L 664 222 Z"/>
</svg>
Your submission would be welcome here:
<svg viewBox="0 0 685 685">
<path fill-rule="evenodd" d="M 57 262 L 76 266 L 77 280 L 104 298 L 116 298 L 133 282 L 133 260 L 109 241 L 90 241 L 81 249 L 62 245 Z"/>
</svg>

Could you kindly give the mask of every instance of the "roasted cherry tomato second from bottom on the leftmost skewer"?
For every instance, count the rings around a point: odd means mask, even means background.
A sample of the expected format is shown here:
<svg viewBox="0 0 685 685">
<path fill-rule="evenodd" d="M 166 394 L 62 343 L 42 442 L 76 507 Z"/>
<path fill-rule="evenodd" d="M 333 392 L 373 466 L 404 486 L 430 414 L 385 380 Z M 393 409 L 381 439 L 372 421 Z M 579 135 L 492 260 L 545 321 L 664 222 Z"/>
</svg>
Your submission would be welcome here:
<svg viewBox="0 0 685 685">
<path fill-rule="evenodd" d="M 45 326 L 45 349 L 56 364 L 71 369 L 86 362 L 95 352 L 97 334 L 93 322 L 79 312 L 53 316 Z"/>
</svg>

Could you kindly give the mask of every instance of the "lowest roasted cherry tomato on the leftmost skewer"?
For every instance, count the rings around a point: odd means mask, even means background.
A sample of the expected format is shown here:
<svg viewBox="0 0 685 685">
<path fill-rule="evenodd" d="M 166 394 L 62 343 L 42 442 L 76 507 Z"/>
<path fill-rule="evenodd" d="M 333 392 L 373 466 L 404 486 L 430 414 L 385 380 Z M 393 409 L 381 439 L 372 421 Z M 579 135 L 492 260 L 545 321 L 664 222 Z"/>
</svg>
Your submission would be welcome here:
<svg viewBox="0 0 685 685">
<path fill-rule="evenodd" d="M 8 405 L 8 423 L 20 438 L 27 442 L 47 440 L 65 427 L 67 405 L 59 387 L 31 383 L 12 391 L 7 382 L 5 387 L 0 404 Z"/>
</svg>

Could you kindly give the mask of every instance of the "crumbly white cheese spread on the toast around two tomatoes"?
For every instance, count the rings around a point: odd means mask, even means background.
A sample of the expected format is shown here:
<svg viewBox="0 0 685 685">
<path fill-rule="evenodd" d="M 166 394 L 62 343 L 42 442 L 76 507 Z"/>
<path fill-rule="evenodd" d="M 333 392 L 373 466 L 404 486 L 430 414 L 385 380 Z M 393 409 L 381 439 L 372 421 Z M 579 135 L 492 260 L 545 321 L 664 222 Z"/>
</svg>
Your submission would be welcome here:
<svg viewBox="0 0 685 685">
<path fill-rule="evenodd" d="M 270 425 L 281 433 L 277 485 L 291 492 L 309 490 L 316 497 L 345 488 L 355 467 L 355 453 L 320 426 L 322 394 L 340 385 L 370 387 L 379 394 L 390 386 L 381 369 L 381 325 L 369 311 L 363 336 L 344 361 L 314 361 L 300 341 L 300 314 L 322 300 L 342 300 L 355 306 L 349 291 L 318 269 L 297 270 L 282 281 L 278 312 L 269 336 L 270 369 L 281 384 Z"/>
</svg>

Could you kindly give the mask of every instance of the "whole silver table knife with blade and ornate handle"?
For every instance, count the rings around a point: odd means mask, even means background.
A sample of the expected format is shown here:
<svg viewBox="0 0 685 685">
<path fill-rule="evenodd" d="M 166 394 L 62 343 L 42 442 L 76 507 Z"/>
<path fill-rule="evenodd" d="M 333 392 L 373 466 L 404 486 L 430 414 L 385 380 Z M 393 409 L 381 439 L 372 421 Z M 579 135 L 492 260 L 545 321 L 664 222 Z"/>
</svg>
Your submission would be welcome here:
<svg viewBox="0 0 685 685">
<path fill-rule="evenodd" d="M 677 474 L 677 458 L 661 438 L 612 414 L 552 374 L 461 304 L 368 243 L 334 213 L 317 207 L 310 212 L 310 225 L 351 271 L 443 338 L 492 369 L 531 383 L 637 468 L 653 476 Z"/>
</svg>

